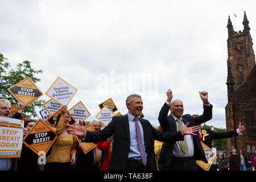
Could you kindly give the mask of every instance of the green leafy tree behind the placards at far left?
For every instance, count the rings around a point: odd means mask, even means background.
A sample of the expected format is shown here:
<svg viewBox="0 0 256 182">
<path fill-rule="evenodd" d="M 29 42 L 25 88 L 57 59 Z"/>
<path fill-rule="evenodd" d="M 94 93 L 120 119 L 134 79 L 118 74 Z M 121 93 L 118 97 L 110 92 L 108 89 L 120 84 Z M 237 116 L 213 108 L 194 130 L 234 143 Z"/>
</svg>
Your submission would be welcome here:
<svg viewBox="0 0 256 182">
<path fill-rule="evenodd" d="M 16 69 L 11 68 L 11 64 L 6 57 L 3 57 L 3 54 L 0 53 L 0 98 L 6 98 L 11 101 L 11 104 L 19 105 L 19 102 L 13 97 L 13 95 L 7 90 L 11 86 L 17 84 L 18 82 L 24 80 L 26 77 L 30 77 L 31 80 L 36 83 L 40 82 L 39 78 L 36 78 L 35 75 L 39 73 L 43 73 L 41 69 L 36 71 L 31 68 L 30 61 L 23 61 L 23 63 L 19 63 L 16 65 Z M 32 115 L 36 117 L 36 107 L 40 107 L 43 109 L 43 103 L 46 102 L 44 100 L 36 100 L 31 105 L 27 106 L 23 111 L 23 115 Z"/>
</svg>

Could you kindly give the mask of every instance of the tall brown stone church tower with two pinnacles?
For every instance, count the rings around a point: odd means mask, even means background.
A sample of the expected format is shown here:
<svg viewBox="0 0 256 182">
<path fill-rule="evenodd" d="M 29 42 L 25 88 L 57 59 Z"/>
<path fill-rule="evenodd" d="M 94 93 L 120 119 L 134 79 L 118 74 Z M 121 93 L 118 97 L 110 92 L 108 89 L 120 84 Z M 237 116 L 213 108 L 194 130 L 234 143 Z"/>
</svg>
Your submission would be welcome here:
<svg viewBox="0 0 256 182">
<path fill-rule="evenodd" d="M 256 146 L 256 68 L 246 13 L 242 23 L 243 31 L 235 32 L 230 17 L 228 19 L 228 104 L 225 110 L 226 130 L 236 130 L 241 122 L 246 131 L 240 137 L 226 140 L 226 153 L 229 156 L 236 148 L 250 157 Z"/>
</svg>

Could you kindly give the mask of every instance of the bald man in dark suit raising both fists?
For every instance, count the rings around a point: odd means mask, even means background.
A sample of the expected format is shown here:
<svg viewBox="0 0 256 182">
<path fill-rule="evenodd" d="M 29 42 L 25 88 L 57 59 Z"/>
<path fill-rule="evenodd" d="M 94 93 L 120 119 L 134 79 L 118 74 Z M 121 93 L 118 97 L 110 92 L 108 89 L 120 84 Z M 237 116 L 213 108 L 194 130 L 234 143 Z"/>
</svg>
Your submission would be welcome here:
<svg viewBox="0 0 256 182">
<path fill-rule="evenodd" d="M 204 104 L 203 115 L 193 118 L 189 114 L 183 115 L 183 102 L 172 101 L 172 91 L 167 90 L 167 101 L 160 110 L 158 121 L 164 132 L 179 131 L 185 123 L 196 126 L 212 119 L 212 105 L 208 102 L 208 93 L 199 92 Z M 168 111 L 171 114 L 168 115 Z M 207 163 L 200 139 L 195 135 L 186 135 L 186 142 L 164 142 L 158 163 L 162 164 L 165 171 L 197 171 L 196 160 Z"/>
</svg>

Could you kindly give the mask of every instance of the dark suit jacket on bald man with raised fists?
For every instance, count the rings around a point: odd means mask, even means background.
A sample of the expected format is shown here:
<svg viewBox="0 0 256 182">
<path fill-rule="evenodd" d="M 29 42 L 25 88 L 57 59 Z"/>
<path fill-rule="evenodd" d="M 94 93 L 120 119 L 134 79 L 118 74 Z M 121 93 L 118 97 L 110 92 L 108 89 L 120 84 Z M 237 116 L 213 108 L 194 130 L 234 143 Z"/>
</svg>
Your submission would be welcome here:
<svg viewBox="0 0 256 182">
<path fill-rule="evenodd" d="M 166 102 L 164 102 L 164 105 L 159 112 L 158 121 L 162 126 L 162 129 L 164 132 L 177 131 L 177 125 L 174 117 L 172 117 L 171 114 L 168 116 L 169 109 L 170 109 L 170 106 L 168 106 Z M 182 116 L 183 122 L 189 123 L 188 127 L 200 125 L 201 123 L 207 122 L 210 119 L 212 119 L 212 105 L 210 106 L 204 105 L 203 115 L 200 115 L 199 117 L 193 118 L 189 114 L 185 114 Z M 203 160 L 205 163 L 207 163 L 207 159 L 205 158 L 204 150 L 201 145 L 199 136 L 192 135 L 192 138 L 195 145 L 193 157 L 196 160 Z M 166 166 L 166 167 L 170 166 L 172 161 L 172 152 L 174 150 L 174 144 L 175 142 L 163 143 L 163 147 L 158 160 L 159 164 L 163 164 L 163 166 Z"/>
</svg>

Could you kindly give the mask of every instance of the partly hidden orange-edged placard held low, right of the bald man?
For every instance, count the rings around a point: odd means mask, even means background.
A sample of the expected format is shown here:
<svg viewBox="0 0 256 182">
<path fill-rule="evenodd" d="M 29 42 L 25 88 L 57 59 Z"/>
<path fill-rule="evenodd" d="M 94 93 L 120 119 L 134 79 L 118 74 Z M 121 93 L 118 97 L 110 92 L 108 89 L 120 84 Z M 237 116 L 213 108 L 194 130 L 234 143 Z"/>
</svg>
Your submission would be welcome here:
<svg viewBox="0 0 256 182">
<path fill-rule="evenodd" d="M 203 150 L 204 150 L 204 155 L 207 158 L 208 163 L 203 162 L 202 160 L 196 160 L 196 163 L 203 168 L 205 171 L 209 171 L 210 166 L 212 166 L 213 159 L 216 156 L 216 152 L 214 152 L 211 148 L 209 148 L 206 144 L 201 142 Z"/>
</svg>

